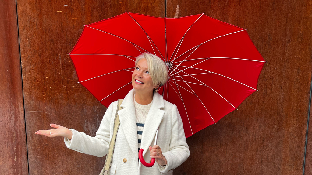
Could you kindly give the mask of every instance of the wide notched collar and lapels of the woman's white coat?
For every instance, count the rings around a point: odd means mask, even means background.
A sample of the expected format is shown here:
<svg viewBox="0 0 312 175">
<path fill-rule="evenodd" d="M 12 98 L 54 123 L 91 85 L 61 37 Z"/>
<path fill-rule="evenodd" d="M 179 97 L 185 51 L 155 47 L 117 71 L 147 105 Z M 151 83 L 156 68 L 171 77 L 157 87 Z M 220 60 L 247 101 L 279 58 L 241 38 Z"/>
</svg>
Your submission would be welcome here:
<svg viewBox="0 0 312 175">
<path fill-rule="evenodd" d="M 133 100 L 134 93 L 135 90 L 132 89 L 124 97 L 124 101 L 120 105 L 123 109 L 118 111 L 118 116 L 129 146 L 134 156 L 138 158 L 138 134 Z M 142 133 L 141 148 L 144 149 L 143 156 L 149 151 L 149 145 L 154 140 L 158 126 L 163 119 L 165 111 L 161 110 L 161 108 L 164 106 L 163 96 L 154 92 L 152 105 L 147 114 Z"/>
</svg>

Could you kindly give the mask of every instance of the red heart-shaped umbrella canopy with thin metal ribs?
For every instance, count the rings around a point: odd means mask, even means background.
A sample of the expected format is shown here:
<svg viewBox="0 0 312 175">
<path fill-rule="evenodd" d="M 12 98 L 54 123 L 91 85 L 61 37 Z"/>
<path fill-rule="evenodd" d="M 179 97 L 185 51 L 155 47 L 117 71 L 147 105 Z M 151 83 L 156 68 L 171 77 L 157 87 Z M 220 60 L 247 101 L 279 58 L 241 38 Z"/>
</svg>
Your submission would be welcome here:
<svg viewBox="0 0 312 175">
<path fill-rule="evenodd" d="M 158 92 L 177 105 L 189 137 L 256 91 L 266 61 L 246 30 L 204 14 L 161 18 L 125 12 L 85 25 L 70 57 L 79 83 L 106 107 L 132 89 L 139 54 L 163 59 L 169 76 Z"/>
</svg>

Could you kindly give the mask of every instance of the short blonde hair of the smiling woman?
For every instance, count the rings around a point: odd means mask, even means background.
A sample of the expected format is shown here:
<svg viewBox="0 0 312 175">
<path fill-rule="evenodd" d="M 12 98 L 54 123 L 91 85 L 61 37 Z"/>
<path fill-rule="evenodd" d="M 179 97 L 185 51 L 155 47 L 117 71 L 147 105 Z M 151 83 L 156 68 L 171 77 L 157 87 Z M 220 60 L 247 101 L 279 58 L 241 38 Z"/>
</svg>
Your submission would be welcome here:
<svg viewBox="0 0 312 175">
<path fill-rule="evenodd" d="M 168 69 L 165 62 L 156 55 L 144 52 L 135 59 L 135 66 L 142 58 L 146 59 L 149 75 L 153 80 L 154 86 L 158 83 L 160 84 L 159 87 L 163 86 L 168 80 Z"/>
</svg>

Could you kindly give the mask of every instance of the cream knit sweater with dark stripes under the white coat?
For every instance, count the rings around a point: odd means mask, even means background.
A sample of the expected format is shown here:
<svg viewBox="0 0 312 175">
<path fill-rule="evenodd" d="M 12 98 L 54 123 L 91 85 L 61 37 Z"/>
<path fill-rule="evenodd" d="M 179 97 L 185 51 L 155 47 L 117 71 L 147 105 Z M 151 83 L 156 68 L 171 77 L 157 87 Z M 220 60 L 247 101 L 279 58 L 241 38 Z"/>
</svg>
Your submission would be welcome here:
<svg viewBox="0 0 312 175">
<path fill-rule="evenodd" d="M 138 152 L 141 148 L 141 139 L 142 139 L 142 133 L 143 133 L 143 128 L 145 124 L 145 119 L 147 114 L 149 113 L 149 108 L 152 105 L 152 102 L 149 103 L 148 105 L 141 105 L 135 101 L 135 94 L 133 96 L 134 100 L 134 108 L 135 108 L 135 117 L 136 117 L 136 122 L 137 122 L 137 132 L 138 132 Z"/>
</svg>

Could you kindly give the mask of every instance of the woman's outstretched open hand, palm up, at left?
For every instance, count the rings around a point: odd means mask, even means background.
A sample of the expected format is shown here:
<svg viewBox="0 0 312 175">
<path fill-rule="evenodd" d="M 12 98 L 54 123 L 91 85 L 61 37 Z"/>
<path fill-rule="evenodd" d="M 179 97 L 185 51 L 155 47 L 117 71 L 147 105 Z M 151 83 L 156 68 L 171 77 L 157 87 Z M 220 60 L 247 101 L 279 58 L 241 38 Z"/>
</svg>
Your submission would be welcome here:
<svg viewBox="0 0 312 175">
<path fill-rule="evenodd" d="M 71 137 L 73 135 L 71 130 L 64 126 L 56 125 L 53 123 L 51 123 L 50 126 L 56 129 L 38 130 L 35 132 L 35 134 L 45 135 L 47 137 L 67 137 L 69 140 L 71 140 Z"/>
</svg>

